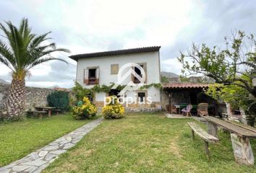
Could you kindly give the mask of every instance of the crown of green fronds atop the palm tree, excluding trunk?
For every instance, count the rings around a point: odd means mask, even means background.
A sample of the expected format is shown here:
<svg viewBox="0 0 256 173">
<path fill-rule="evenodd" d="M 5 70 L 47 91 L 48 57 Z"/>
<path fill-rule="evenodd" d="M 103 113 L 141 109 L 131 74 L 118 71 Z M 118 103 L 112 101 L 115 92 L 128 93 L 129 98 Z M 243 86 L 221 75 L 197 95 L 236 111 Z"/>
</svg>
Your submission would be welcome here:
<svg viewBox="0 0 256 173">
<path fill-rule="evenodd" d="M 0 43 L 0 62 L 12 68 L 17 76 L 24 76 L 28 73 L 28 69 L 46 61 L 64 61 L 61 58 L 51 57 L 51 53 L 59 51 L 69 53 L 67 49 L 56 48 L 55 43 L 43 45 L 44 41 L 51 39 L 48 37 L 51 32 L 43 35 L 33 34 L 27 19 L 22 19 L 18 28 L 12 25 L 12 22 L 5 24 L 6 26 L 0 24 L 0 30 L 4 32 L 9 44 Z"/>
</svg>

